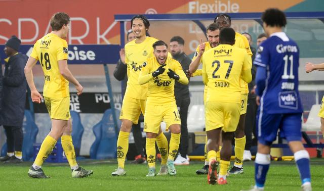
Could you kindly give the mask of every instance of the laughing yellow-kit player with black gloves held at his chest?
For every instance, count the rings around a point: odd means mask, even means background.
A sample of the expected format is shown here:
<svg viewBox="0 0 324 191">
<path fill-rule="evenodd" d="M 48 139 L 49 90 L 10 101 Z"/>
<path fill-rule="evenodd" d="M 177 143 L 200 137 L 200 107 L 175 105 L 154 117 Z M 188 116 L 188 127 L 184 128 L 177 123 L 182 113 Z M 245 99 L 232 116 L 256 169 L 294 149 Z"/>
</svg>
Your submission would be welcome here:
<svg viewBox="0 0 324 191">
<path fill-rule="evenodd" d="M 174 158 L 180 144 L 180 114 L 174 97 L 174 84 L 177 80 L 188 84 L 189 80 L 180 63 L 168 57 L 168 44 L 159 40 L 153 43 L 154 57 L 149 58 L 142 67 L 139 84 L 148 84 L 146 109 L 144 114 L 144 131 L 146 132 L 146 155 L 149 171 L 146 176 L 155 176 L 155 141 L 163 134 L 160 122 L 164 120 L 171 131 L 170 150 L 167 161 L 167 173 L 176 175 Z M 162 169 L 163 164 L 161 164 Z M 166 167 L 164 167 L 166 168 Z M 158 175 L 166 173 L 160 172 Z"/>
</svg>

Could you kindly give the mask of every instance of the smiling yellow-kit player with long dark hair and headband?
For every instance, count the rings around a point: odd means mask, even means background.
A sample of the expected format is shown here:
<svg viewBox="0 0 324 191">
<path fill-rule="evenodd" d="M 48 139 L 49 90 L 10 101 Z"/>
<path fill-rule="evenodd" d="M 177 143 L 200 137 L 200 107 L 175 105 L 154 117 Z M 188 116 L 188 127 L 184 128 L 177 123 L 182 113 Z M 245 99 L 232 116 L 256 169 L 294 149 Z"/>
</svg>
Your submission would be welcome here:
<svg viewBox="0 0 324 191">
<path fill-rule="evenodd" d="M 120 131 L 117 139 L 117 161 L 118 168 L 111 173 L 112 176 L 125 175 L 125 158 L 128 152 L 129 136 L 132 125 L 138 123 L 141 114 L 145 114 L 147 84 L 140 85 L 138 76 L 142 70 L 143 63 L 153 57 L 152 44 L 156 38 L 146 36 L 146 31 L 150 26 L 149 21 L 143 15 L 136 15 L 131 20 L 132 31 L 135 39 L 125 45 L 125 64 L 127 64 L 127 88 L 121 107 L 119 119 L 121 120 Z M 167 150 L 168 140 L 162 133 L 157 138 L 159 149 Z M 165 152 L 162 152 L 163 154 Z M 167 164 L 167 154 L 162 155 L 162 163 Z"/>
</svg>

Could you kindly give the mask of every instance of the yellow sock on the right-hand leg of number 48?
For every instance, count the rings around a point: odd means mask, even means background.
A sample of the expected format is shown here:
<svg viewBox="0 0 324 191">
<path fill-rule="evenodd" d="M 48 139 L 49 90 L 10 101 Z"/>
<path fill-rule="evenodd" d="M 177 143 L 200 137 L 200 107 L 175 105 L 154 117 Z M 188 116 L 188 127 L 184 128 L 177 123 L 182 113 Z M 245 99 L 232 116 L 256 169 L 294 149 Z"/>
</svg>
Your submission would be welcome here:
<svg viewBox="0 0 324 191">
<path fill-rule="evenodd" d="M 71 169 L 74 170 L 78 169 L 78 165 L 75 160 L 75 151 L 72 143 L 72 136 L 71 135 L 61 136 L 61 144 Z"/>
</svg>

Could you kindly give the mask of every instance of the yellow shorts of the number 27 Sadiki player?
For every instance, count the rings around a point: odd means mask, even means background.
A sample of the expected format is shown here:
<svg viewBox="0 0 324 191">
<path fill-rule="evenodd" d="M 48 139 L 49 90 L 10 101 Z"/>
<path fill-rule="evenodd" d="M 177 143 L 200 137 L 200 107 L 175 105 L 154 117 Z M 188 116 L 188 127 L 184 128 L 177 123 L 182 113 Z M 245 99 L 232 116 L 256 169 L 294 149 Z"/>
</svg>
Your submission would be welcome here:
<svg viewBox="0 0 324 191">
<path fill-rule="evenodd" d="M 206 131 L 221 128 L 224 132 L 234 132 L 239 121 L 239 103 L 206 102 Z"/>
</svg>

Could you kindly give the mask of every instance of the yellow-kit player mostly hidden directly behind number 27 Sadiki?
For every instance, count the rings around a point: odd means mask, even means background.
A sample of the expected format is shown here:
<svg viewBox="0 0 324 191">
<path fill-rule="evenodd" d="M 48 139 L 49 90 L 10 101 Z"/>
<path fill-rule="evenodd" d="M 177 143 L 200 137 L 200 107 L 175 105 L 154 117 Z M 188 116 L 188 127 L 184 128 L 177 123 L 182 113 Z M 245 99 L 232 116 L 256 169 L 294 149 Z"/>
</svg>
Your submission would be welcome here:
<svg viewBox="0 0 324 191">
<path fill-rule="evenodd" d="M 224 27 L 230 27 L 231 26 L 231 18 L 227 14 L 219 14 L 215 17 L 214 20 L 215 23 L 217 23 L 220 28 Z M 235 44 L 234 46 L 239 47 L 240 49 L 244 49 L 250 58 L 250 64 L 252 66 L 252 52 L 250 49 L 250 44 L 244 35 L 235 32 Z M 244 155 L 244 149 L 246 144 L 246 136 L 244 133 L 245 129 L 245 117 L 247 113 L 247 107 L 248 107 L 248 93 L 249 93 L 249 87 L 248 83 L 246 83 L 244 80 L 240 80 L 240 86 L 241 86 L 241 110 L 240 110 L 240 118 L 238 122 L 238 127 L 235 131 L 235 162 L 234 166 L 232 166 L 228 174 L 240 174 L 243 173 L 243 155 Z"/>
</svg>

